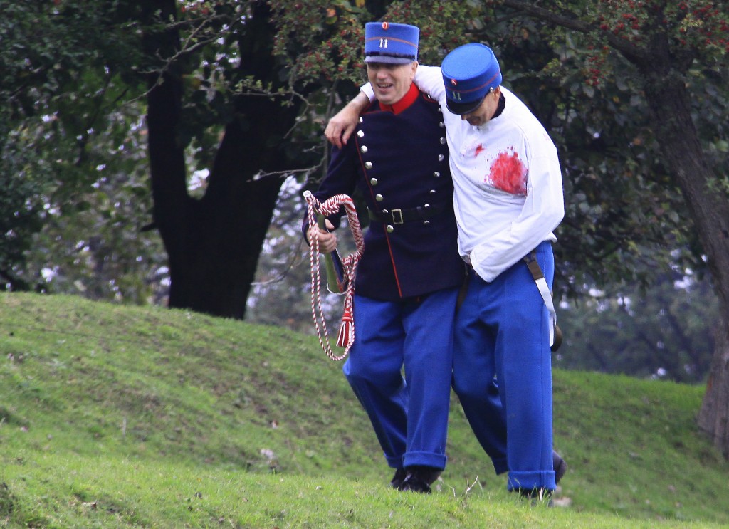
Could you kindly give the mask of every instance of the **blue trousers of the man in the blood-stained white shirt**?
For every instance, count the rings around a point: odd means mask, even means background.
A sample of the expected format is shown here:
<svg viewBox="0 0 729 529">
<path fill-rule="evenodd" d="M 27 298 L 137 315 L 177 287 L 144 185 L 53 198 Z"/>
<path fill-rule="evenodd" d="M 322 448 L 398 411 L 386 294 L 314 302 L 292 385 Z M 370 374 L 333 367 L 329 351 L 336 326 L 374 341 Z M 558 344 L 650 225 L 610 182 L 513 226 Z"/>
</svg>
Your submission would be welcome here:
<svg viewBox="0 0 729 529">
<path fill-rule="evenodd" d="M 537 261 L 551 289 L 551 243 L 537 247 Z M 456 316 L 453 389 L 492 459 L 505 423 L 509 490 L 556 487 L 551 361 L 549 312 L 526 263 L 491 283 L 472 272 Z"/>
</svg>

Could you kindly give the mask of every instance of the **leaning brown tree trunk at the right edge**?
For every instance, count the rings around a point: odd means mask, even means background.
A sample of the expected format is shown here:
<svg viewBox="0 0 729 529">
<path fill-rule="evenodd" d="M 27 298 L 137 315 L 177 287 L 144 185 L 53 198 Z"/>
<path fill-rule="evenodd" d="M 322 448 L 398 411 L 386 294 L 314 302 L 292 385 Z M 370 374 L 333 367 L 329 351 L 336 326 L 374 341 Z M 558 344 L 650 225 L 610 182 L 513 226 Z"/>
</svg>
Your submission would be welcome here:
<svg viewBox="0 0 729 529">
<path fill-rule="evenodd" d="M 655 136 L 674 173 L 706 253 L 719 297 L 719 323 L 698 426 L 729 458 L 729 202 L 716 190 L 714 173 L 703 157 L 690 114 L 690 98 L 682 76 L 670 65 L 668 46 L 655 48 L 650 64 L 640 64 Z"/>
</svg>

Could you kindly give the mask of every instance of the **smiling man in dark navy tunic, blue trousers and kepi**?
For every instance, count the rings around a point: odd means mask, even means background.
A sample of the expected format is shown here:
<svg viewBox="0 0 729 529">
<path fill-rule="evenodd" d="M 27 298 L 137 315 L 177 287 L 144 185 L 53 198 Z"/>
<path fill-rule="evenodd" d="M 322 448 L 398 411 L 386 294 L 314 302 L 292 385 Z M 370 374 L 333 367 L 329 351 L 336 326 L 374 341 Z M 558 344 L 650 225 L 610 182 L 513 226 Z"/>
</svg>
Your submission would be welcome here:
<svg viewBox="0 0 729 529">
<path fill-rule="evenodd" d="M 412 83 L 418 36 L 405 24 L 365 26 L 377 100 L 354 141 L 334 149 L 315 196 L 358 188 L 370 210 L 356 270 L 355 341 L 343 371 L 395 469 L 392 486 L 428 493 L 445 468 L 453 318 L 465 270 L 443 114 Z M 339 219 L 329 220 L 337 226 Z M 320 232 L 319 240 L 330 250 L 335 235 Z"/>
</svg>

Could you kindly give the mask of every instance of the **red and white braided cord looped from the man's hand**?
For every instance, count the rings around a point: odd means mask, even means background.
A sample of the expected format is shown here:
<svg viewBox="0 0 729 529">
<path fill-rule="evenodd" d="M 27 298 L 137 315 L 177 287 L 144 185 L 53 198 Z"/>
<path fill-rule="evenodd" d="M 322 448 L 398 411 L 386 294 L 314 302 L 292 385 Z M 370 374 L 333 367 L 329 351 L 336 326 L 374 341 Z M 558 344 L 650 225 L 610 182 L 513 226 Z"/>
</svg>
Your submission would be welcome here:
<svg viewBox="0 0 729 529">
<path fill-rule="evenodd" d="M 354 272 L 357 262 L 362 257 L 364 251 L 364 238 L 362 238 L 362 228 L 359 226 L 359 218 L 357 217 L 354 202 L 348 195 L 334 195 L 333 197 L 319 202 L 316 197 L 307 193 L 305 194 L 308 204 L 308 235 L 309 235 L 309 264 L 311 264 L 311 316 L 316 327 L 316 334 L 319 336 L 319 343 L 324 353 L 332 358 L 332 360 L 343 360 L 349 353 L 354 343 Z M 321 274 L 319 273 L 319 226 L 316 222 L 316 215 L 321 214 L 330 216 L 339 211 L 340 207 L 344 207 L 347 213 L 349 229 L 354 238 L 356 251 L 342 259 L 342 267 L 344 273 L 344 281 L 347 289 L 344 296 L 344 315 L 342 318 L 342 329 L 340 329 L 340 337 L 338 344 L 345 347 L 344 353 L 338 356 L 332 352 L 329 341 L 329 333 L 327 332 L 327 324 L 324 321 L 324 310 L 321 308 Z M 319 321 L 321 320 L 321 326 Z M 322 337 L 323 334 L 323 337 Z"/>
</svg>

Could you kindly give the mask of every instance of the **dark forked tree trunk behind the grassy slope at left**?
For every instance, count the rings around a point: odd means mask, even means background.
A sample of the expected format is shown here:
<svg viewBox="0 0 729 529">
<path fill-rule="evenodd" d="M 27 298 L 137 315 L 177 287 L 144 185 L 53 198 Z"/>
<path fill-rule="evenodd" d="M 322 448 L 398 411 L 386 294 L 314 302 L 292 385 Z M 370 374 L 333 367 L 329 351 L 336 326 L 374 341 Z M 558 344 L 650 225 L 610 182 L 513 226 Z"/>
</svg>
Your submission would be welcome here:
<svg viewBox="0 0 729 529">
<path fill-rule="evenodd" d="M 160 9 L 175 14 L 174 0 L 149 1 L 147 17 Z M 276 78 L 270 56 L 273 37 L 268 6 L 257 2 L 247 33 L 255 49 L 241 49 L 241 71 L 257 79 Z M 262 46 L 261 43 L 266 44 Z M 246 43 L 242 44 L 245 47 Z M 145 35 L 147 56 L 172 57 L 179 48 L 173 28 Z M 159 82 L 158 82 L 159 81 Z M 225 128 L 208 179 L 206 195 L 187 193 L 184 146 L 177 141 L 182 109 L 182 79 L 173 63 L 161 79 L 154 74 L 148 94 L 147 128 L 154 219 L 169 258 L 169 306 L 214 316 L 243 319 L 258 257 L 283 182 L 286 156 L 281 145 L 295 123 L 298 106 L 269 98 L 235 101 L 235 116 Z"/>
</svg>

